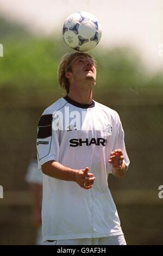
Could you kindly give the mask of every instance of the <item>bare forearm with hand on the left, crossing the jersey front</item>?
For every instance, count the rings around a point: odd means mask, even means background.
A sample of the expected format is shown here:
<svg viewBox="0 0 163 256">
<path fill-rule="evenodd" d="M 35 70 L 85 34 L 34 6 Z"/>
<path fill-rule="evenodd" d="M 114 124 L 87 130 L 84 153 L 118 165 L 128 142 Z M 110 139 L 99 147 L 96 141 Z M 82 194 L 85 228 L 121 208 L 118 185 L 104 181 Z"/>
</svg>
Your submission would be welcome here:
<svg viewBox="0 0 163 256">
<path fill-rule="evenodd" d="M 80 187 L 85 189 L 91 188 L 96 179 L 92 173 L 89 173 L 88 167 L 82 170 L 71 169 L 52 160 L 42 164 L 41 168 L 43 174 L 59 180 L 77 182 Z"/>
</svg>

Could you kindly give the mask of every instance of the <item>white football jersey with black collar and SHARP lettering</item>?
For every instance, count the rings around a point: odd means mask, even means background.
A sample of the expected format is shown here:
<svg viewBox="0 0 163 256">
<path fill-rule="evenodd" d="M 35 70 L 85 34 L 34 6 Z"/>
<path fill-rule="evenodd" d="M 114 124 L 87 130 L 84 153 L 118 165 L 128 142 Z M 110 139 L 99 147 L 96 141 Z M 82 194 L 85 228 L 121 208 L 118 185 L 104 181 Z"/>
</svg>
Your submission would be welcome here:
<svg viewBox="0 0 163 256">
<path fill-rule="evenodd" d="M 37 133 L 39 168 L 50 160 L 72 169 L 89 167 L 96 181 L 90 190 L 76 182 L 43 175 L 43 240 L 105 237 L 122 233 L 108 188 L 111 151 L 121 149 L 129 159 L 116 111 L 96 101 L 83 105 L 62 97 L 42 114 Z"/>
</svg>

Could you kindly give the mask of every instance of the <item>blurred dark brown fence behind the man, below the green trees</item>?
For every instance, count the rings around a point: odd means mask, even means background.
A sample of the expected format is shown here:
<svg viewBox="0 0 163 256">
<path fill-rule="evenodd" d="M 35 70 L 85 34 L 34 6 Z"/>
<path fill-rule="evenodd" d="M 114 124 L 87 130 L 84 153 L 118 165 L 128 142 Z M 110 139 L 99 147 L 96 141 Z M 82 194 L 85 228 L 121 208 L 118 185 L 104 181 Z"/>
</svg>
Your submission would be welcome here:
<svg viewBox="0 0 163 256">
<path fill-rule="evenodd" d="M 1 90 L 0 244 L 30 244 L 30 194 L 24 181 L 35 150 L 37 122 L 47 106 L 62 96 L 60 90 Z M 163 245 L 163 89 L 95 89 L 94 99 L 114 108 L 125 131 L 130 168 L 125 178 L 109 175 L 128 244 Z"/>
</svg>

